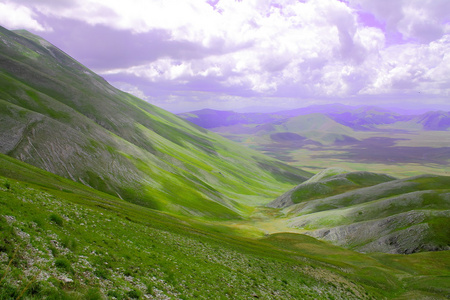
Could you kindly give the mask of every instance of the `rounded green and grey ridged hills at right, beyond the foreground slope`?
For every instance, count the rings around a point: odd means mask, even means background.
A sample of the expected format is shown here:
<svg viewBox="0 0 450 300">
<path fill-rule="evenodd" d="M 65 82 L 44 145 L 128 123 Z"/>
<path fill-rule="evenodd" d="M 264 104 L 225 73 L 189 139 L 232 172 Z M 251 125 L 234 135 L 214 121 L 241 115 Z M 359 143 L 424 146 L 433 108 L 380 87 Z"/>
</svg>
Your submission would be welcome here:
<svg viewBox="0 0 450 300">
<path fill-rule="evenodd" d="M 290 226 L 362 252 L 450 250 L 450 177 L 329 169 L 270 203 Z"/>
</svg>

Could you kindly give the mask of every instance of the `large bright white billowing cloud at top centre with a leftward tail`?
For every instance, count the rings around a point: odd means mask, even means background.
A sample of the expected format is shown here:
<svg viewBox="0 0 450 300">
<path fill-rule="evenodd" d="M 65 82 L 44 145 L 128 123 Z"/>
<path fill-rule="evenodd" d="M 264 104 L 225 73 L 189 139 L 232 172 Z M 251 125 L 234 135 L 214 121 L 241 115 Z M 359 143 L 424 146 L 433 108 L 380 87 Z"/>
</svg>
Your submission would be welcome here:
<svg viewBox="0 0 450 300">
<path fill-rule="evenodd" d="M 344 56 L 340 36 L 350 39 L 350 42 L 345 41 L 349 43 L 345 47 L 351 48 L 354 44 L 356 20 L 348 7 L 333 0 L 292 2 L 282 9 L 261 7 L 258 1 L 220 1 L 216 9 L 220 11 L 220 16 L 216 17 L 223 26 L 208 24 L 205 28 L 209 31 L 186 34 L 184 38 L 199 35 L 204 35 L 201 41 L 223 38 L 225 44 L 243 45 L 243 49 L 183 63 L 161 58 L 149 65 L 120 72 L 151 81 L 208 74 L 221 77 L 226 86 L 274 92 L 286 80 L 298 81 L 305 61 L 316 61 L 318 57 L 333 61 L 335 55 Z M 333 18 L 329 18 L 330 15 Z M 195 24 L 190 30 L 195 31 Z"/>
</svg>

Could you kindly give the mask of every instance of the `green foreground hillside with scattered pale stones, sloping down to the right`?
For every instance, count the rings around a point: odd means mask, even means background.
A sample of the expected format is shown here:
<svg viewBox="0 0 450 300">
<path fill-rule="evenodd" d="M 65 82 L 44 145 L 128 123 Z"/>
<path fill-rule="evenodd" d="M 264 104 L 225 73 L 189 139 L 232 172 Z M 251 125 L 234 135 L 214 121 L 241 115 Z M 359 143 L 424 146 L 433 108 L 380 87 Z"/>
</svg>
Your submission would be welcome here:
<svg viewBox="0 0 450 300">
<path fill-rule="evenodd" d="M 0 155 L 0 174 L 0 299 L 444 299 L 450 292 L 449 251 L 369 256 L 298 234 L 250 239 L 8 156 Z"/>
</svg>

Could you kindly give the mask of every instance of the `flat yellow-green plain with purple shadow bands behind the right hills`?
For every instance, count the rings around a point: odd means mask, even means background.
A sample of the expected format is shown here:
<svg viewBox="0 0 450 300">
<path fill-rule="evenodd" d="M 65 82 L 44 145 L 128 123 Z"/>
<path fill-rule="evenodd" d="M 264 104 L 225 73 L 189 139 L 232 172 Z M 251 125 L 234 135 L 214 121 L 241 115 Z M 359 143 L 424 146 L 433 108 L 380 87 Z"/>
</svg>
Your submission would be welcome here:
<svg viewBox="0 0 450 300">
<path fill-rule="evenodd" d="M 292 149 L 290 155 L 294 166 L 317 172 L 330 166 L 353 171 L 386 173 L 397 177 L 420 174 L 450 175 L 448 131 L 418 131 L 410 133 L 356 132 L 358 140 L 374 138 L 390 141 L 389 146 L 381 143 L 371 148 L 370 143 L 357 146 L 307 146 Z M 376 142 L 376 141 L 375 141 Z M 252 146 L 252 148 L 260 149 Z M 356 149 L 355 149 L 356 148 Z M 265 151 L 263 151 L 265 152 Z M 265 152 L 276 157 L 276 152 Z"/>
</svg>

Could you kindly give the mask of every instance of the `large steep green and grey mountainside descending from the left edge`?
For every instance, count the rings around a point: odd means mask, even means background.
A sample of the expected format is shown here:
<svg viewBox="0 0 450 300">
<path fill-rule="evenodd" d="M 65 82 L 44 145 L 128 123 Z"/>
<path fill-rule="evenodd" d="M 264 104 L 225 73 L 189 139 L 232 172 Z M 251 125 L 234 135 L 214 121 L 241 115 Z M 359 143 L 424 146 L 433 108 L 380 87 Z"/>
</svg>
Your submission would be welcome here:
<svg viewBox="0 0 450 300">
<path fill-rule="evenodd" d="M 0 37 L 1 153 L 207 218 L 238 218 L 310 176 L 115 89 L 26 31 L 2 28 Z"/>
</svg>

